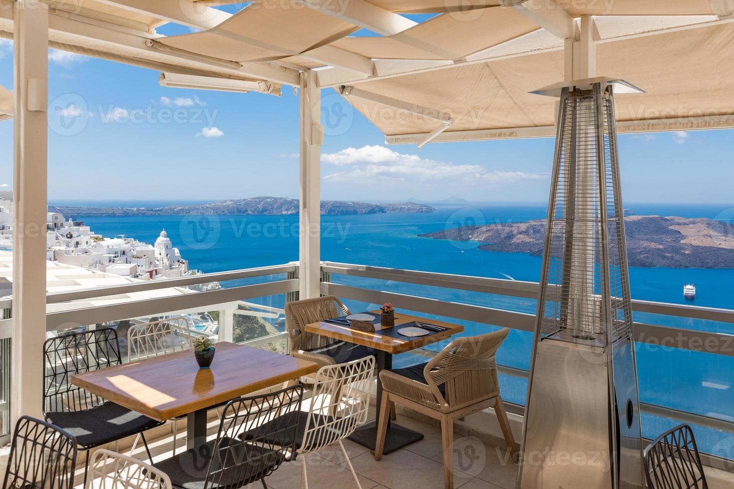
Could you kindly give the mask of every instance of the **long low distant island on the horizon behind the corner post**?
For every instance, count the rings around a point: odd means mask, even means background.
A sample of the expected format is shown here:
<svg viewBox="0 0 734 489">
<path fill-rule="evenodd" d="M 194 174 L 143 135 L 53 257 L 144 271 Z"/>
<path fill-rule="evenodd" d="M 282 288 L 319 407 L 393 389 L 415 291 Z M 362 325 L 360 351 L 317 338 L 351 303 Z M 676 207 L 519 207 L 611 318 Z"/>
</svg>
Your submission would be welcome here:
<svg viewBox="0 0 734 489">
<path fill-rule="evenodd" d="M 321 214 L 382 214 L 382 213 L 430 213 L 435 209 L 415 202 L 403 204 L 366 204 L 364 202 L 342 202 L 324 200 Z M 229 199 L 200 205 L 168 205 L 166 207 L 87 207 L 49 206 L 48 212 L 62 213 L 65 217 L 87 216 L 182 216 L 187 214 L 222 215 L 275 215 L 288 216 L 298 213 L 298 199 L 286 197 L 251 197 Z"/>
</svg>

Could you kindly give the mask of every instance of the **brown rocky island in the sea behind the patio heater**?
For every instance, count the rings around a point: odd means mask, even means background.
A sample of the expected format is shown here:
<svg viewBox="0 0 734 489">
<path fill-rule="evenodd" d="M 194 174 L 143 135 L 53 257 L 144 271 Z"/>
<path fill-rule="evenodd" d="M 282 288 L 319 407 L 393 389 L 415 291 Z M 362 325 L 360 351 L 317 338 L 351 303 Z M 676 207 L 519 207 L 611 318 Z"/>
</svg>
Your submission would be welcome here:
<svg viewBox="0 0 734 489">
<path fill-rule="evenodd" d="M 706 218 L 625 216 L 631 267 L 734 268 L 734 225 Z M 542 256 L 545 220 L 465 226 L 421 236 Z"/>
</svg>

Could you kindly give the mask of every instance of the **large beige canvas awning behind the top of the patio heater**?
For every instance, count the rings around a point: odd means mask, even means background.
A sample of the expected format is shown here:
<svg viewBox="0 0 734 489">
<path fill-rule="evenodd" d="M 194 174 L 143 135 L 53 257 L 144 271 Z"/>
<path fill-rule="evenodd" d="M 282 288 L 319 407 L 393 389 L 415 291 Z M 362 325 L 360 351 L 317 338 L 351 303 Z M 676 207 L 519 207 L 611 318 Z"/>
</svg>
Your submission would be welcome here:
<svg viewBox="0 0 734 489">
<path fill-rule="evenodd" d="M 734 25 L 635 37 L 597 46 L 597 73 L 646 91 L 617 95 L 617 122 L 734 114 Z M 367 92 L 448 112 L 454 130 L 552 126 L 556 100 L 528 92 L 564 79 L 563 51 L 365 81 Z M 386 135 L 429 133 L 438 122 L 348 98 Z"/>
</svg>

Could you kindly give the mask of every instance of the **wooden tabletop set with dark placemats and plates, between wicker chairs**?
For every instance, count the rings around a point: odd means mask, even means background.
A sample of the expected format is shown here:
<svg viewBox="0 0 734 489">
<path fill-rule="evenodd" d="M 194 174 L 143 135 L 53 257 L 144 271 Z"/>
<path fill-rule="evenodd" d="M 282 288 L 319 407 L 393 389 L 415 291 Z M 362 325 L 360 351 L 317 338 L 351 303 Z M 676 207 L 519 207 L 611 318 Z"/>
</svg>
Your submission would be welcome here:
<svg viewBox="0 0 734 489">
<path fill-rule="evenodd" d="M 371 311 L 370 314 L 379 317 L 380 312 Z M 349 328 L 349 326 L 340 326 L 333 323 L 310 323 L 305 326 L 306 331 L 309 333 L 319 334 L 322 337 L 329 337 L 334 339 L 341 339 L 346 342 L 355 343 L 357 345 L 364 345 L 376 350 L 382 350 L 388 353 L 404 353 L 406 351 L 415 350 L 415 348 L 421 348 L 432 343 L 440 342 L 443 339 L 452 337 L 454 334 L 461 333 L 464 331 L 464 326 L 458 324 L 444 323 L 443 321 L 436 321 L 432 319 L 426 319 L 425 317 L 416 317 L 407 314 L 397 313 L 395 314 L 395 328 L 399 328 L 405 323 L 412 323 L 413 321 L 419 321 L 426 324 L 435 324 L 436 326 L 443 326 L 448 328 L 446 331 L 441 333 L 429 334 L 424 337 L 413 337 L 413 338 L 393 338 L 386 337 L 379 334 L 382 330 L 382 326 L 379 324 L 374 325 L 374 333 L 366 333 L 365 331 L 359 331 L 357 329 Z"/>
</svg>

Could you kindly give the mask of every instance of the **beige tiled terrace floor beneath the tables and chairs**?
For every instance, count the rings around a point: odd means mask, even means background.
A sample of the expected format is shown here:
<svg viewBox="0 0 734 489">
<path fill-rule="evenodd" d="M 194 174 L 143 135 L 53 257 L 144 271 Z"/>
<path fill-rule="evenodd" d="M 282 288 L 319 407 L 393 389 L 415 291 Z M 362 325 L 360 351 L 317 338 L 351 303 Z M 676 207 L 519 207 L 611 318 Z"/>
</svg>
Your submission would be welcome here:
<svg viewBox="0 0 734 489">
<path fill-rule="evenodd" d="M 374 414 L 371 416 L 374 419 Z M 344 448 L 357 471 L 362 489 L 443 489 L 443 455 L 440 429 L 415 419 L 399 416 L 398 421 L 425 438 L 397 452 L 384 455 L 377 462 L 368 449 L 345 440 Z M 210 435 L 217 424 L 210 423 Z M 170 456 L 170 437 L 150 443 L 153 460 Z M 515 489 L 517 466 L 507 460 L 506 449 L 483 444 L 477 438 L 454 435 L 454 487 L 462 489 Z M 183 441 L 179 441 L 181 449 Z M 145 452 L 136 457 L 145 460 Z M 306 457 L 309 489 L 357 488 L 338 444 Z M 81 484 L 81 479 L 79 480 Z M 301 462 L 286 463 L 266 477 L 268 488 L 293 489 L 301 483 Z M 259 488 L 261 485 L 252 485 Z"/>
</svg>

